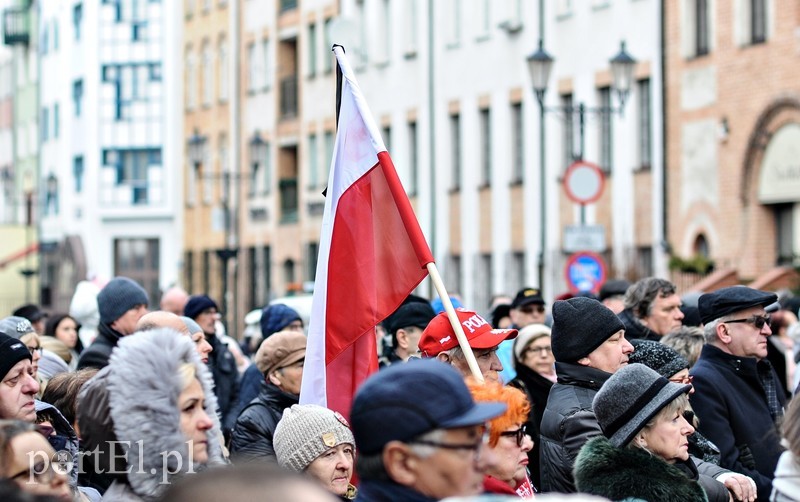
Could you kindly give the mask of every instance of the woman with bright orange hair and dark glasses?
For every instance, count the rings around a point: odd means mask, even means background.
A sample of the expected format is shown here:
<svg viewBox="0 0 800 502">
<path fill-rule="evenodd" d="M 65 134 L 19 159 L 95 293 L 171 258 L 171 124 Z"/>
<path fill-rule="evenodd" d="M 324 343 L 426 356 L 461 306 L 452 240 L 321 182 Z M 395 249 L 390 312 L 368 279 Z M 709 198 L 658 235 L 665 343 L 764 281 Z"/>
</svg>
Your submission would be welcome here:
<svg viewBox="0 0 800 502">
<path fill-rule="evenodd" d="M 513 387 L 503 387 L 496 382 L 479 384 L 467 381 L 476 402 L 501 402 L 506 405 L 502 415 L 489 422 L 488 449 L 496 458 L 485 471 L 483 488 L 489 493 L 533 497 L 533 486 L 528 477 L 528 452 L 533 440 L 526 431 L 530 404 L 525 394 Z"/>
</svg>

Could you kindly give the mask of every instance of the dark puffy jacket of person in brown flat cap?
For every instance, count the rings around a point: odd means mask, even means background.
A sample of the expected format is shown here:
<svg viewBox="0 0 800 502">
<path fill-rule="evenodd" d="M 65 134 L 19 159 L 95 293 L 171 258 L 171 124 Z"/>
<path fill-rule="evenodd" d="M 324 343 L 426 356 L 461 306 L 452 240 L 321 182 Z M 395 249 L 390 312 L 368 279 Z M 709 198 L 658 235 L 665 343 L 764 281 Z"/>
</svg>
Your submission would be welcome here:
<svg viewBox="0 0 800 502">
<path fill-rule="evenodd" d="M 231 436 L 234 463 L 275 460 L 272 446 L 275 427 L 283 416 L 283 410 L 297 404 L 297 400 L 298 396 L 264 381 L 258 397 L 250 401 L 236 420 Z"/>
</svg>

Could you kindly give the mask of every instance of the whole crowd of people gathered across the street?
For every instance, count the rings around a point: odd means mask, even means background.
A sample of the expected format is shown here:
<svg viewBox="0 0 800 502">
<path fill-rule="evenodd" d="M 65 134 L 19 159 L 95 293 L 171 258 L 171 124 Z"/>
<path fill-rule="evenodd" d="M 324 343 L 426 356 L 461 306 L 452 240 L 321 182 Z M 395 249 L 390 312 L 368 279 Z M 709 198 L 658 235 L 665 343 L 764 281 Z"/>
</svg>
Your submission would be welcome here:
<svg viewBox="0 0 800 502">
<path fill-rule="evenodd" d="M 151 309 L 125 277 L 24 305 L 0 319 L 0 500 L 800 501 L 800 298 L 649 277 L 452 300 L 457 322 L 412 295 L 376 328 L 347 418 L 300 404 L 286 305 L 241 341 L 211 297 Z"/>
</svg>

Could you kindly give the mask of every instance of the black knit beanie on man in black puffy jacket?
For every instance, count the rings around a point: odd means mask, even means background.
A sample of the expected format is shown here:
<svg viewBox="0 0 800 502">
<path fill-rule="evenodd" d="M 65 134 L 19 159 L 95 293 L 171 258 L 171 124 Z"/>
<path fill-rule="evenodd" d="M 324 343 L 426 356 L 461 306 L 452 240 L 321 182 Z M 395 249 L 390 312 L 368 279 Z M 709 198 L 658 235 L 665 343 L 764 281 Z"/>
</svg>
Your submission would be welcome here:
<svg viewBox="0 0 800 502">
<path fill-rule="evenodd" d="M 608 307 L 592 298 L 578 296 L 553 303 L 553 356 L 574 363 L 588 356 L 625 325 Z"/>
</svg>

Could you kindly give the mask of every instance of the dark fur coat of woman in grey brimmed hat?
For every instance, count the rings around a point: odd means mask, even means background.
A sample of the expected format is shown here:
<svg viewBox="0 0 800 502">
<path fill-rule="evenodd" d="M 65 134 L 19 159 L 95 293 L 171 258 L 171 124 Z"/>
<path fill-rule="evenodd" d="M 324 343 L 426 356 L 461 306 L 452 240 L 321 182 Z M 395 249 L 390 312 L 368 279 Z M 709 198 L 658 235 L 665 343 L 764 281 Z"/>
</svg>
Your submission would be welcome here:
<svg viewBox="0 0 800 502">
<path fill-rule="evenodd" d="M 575 484 L 582 493 L 611 500 L 707 502 L 691 462 L 678 469 L 636 448 L 617 448 L 605 437 L 586 443 L 575 460 Z M 688 473 L 691 473 L 687 476 Z"/>
</svg>

